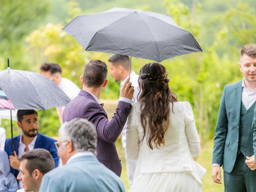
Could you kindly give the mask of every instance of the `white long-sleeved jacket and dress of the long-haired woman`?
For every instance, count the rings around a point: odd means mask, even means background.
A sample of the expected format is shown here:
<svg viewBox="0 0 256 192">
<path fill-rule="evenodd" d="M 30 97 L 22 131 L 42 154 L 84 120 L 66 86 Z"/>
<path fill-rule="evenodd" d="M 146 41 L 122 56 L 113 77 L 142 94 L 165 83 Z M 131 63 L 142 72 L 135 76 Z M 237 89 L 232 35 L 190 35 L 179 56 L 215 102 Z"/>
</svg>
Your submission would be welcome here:
<svg viewBox="0 0 256 192">
<path fill-rule="evenodd" d="M 149 148 L 140 124 L 140 103 L 134 104 L 126 131 L 127 155 L 138 160 L 130 192 L 200 192 L 206 170 L 192 156 L 200 151 L 194 115 L 189 102 L 170 104 L 165 145 Z M 146 132 L 147 133 L 147 132 Z"/>
</svg>

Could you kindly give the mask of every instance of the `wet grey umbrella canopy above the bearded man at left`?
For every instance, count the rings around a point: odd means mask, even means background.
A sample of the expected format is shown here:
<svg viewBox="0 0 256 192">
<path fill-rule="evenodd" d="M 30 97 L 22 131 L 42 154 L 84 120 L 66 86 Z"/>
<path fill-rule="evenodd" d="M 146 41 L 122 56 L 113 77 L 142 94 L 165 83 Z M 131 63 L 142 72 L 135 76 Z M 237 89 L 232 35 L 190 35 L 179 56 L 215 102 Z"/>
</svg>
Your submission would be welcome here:
<svg viewBox="0 0 256 192">
<path fill-rule="evenodd" d="M 0 71 L 0 87 L 15 109 L 41 109 L 66 106 L 70 98 L 54 82 L 41 74 L 6 69 Z"/>
</svg>

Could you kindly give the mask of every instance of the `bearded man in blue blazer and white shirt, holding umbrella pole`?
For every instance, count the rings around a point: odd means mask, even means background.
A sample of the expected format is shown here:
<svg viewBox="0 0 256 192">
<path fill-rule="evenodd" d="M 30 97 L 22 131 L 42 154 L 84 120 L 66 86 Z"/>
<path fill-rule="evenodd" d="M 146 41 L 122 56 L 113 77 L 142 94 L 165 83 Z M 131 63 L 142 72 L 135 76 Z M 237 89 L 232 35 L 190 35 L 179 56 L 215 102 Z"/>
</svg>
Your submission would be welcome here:
<svg viewBox="0 0 256 192">
<path fill-rule="evenodd" d="M 6 139 L 4 146 L 4 150 L 9 156 L 11 173 L 17 177 L 19 173 L 18 169 L 20 167 L 18 157 L 22 156 L 25 152 L 36 148 L 48 150 L 54 159 L 55 167 L 58 167 L 59 157 L 54 144 L 56 140 L 38 132 L 39 123 L 37 112 L 35 110 L 18 110 L 17 120 L 17 124 L 22 130 L 22 134 L 13 138 L 14 154 L 12 154 L 11 138 Z M 22 188 L 22 184 L 20 182 L 18 183 L 19 187 Z"/>
</svg>

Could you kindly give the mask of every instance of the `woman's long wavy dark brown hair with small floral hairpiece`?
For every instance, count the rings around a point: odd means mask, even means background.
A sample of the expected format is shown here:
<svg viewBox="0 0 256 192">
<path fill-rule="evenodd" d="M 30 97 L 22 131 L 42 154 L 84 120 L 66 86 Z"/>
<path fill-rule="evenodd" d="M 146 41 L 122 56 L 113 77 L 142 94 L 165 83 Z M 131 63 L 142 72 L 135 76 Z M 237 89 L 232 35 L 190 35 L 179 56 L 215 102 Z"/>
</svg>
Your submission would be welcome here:
<svg viewBox="0 0 256 192">
<path fill-rule="evenodd" d="M 140 70 L 139 87 L 142 90 L 138 102 L 141 103 L 140 123 L 143 128 L 143 139 L 148 125 L 148 146 L 152 143 L 160 147 L 165 144 L 164 133 L 169 126 L 170 103 L 177 101 L 177 96 L 168 86 L 169 78 L 166 68 L 158 62 L 144 65 Z"/>
</svg>

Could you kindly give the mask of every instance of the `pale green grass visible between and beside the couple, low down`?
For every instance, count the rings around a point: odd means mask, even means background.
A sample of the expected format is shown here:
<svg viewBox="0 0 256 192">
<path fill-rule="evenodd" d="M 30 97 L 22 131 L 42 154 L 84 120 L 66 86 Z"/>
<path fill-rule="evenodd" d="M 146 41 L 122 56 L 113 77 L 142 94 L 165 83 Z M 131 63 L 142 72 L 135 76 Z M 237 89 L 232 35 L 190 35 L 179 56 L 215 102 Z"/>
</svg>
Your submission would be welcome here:
<svg viewBox="0 0 256 192">
<path fill-rule="evenodd" d="M 111 119 L 114 114 L 114 109 L 116 108 L 117 100 L 101 100 L 104 102 L 104 109 L 108 114 L 108 118 Z M 206 174 L 202 179 L 203 183 L 203 191 L 204 192 L 222 192 L 224 191 L 223 180 L 222 184 L 216 184 L 212 181 L 212 148 L 213 148 L 213 140 L 208 140 L 201 144 L 200 154 L 196 157 L 196 162 L 198 162 L 201 166 L 206 168 Z M 124 149 L 122 148 L 121 139 L 119 138 L 116 141 L 116 149 L 121 159 L 122 163 L 122 174 L 121 179 L 124 181 L 126 191 L 129 190 L 129 184 L 127 180 L 127 172 L 124 158 Z M 223 178 L 223 172 L 222 172 Z"/>
</svg>

